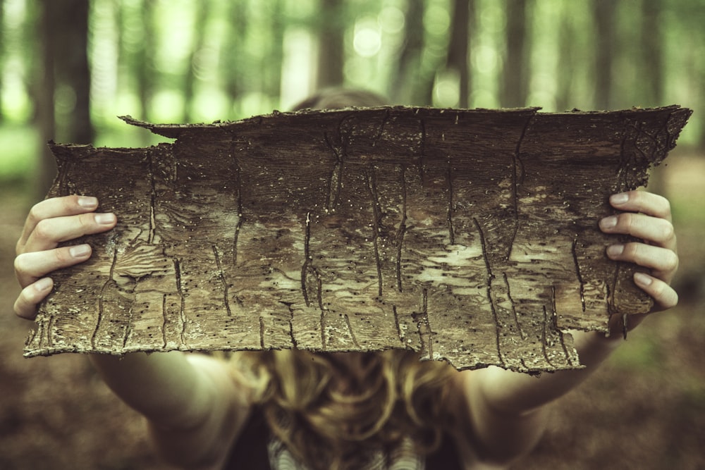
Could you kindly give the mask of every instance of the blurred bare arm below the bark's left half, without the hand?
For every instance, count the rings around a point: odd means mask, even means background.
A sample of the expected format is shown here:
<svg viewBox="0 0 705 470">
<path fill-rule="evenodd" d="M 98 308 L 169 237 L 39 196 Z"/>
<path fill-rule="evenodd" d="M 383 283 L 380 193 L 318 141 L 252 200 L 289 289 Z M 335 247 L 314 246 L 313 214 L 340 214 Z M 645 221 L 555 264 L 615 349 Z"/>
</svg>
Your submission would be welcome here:
<svg viewBox="0 0 705 470">
<path fill-rule="evenodd" d="M 220 469 L 250 406 L 226 364 L 202 354 L 92 355 L 113 392 L 149 423 L 166 462 L 183 469 Z"/>
</svg>

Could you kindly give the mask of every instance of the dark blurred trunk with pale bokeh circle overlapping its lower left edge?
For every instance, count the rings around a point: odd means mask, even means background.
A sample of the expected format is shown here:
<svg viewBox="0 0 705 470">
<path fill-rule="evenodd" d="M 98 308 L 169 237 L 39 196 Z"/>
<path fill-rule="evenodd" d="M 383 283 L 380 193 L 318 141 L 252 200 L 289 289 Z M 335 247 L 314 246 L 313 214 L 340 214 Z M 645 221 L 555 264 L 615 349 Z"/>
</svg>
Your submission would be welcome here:
<svg viewBox="0 0 705 470">
<path fill-rule="evenodd" d="M 460 108 L 467 108 L 470 99 L 470 25 L 474 25 L 474 0 L 453 0 L 450 44 L 446 67 L 460 78 Z"/>
</svg>

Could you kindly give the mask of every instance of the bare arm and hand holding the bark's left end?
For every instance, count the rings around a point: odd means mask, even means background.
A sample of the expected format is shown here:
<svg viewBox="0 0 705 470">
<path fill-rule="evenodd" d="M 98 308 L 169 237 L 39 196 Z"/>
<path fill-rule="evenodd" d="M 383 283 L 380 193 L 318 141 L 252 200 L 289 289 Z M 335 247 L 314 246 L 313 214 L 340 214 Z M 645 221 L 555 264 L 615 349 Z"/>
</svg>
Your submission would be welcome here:
<svg viewBox="0 0 705 470">
<path fill-rule="evenodd" d="M 18 316 L 33 319 L 51 291 L 47 273 L 87 260 L 89 245 L 60 242 L 101 233 L 116 225 L 114 214 L 95 214 L 98 202 L 68 196 L 40 202 L 18 240 L 16 276 L 23 290 Z M 217 469 L 249 414 L 249 396 L 228 366 L 181 352 L 91 356 L 107 385 L 149 421 L 154 443 L 166 460 L 185 469 Z"/>
</svg>

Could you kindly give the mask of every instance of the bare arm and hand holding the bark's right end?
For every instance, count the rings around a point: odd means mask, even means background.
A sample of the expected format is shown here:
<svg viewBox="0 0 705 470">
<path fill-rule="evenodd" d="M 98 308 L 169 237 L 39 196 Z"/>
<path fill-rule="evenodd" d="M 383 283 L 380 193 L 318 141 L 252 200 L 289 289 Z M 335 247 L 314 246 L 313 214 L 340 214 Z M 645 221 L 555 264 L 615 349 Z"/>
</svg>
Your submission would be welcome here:
<svg viewBox="0 0 705 470">
<path fill-rule="evenodd" d="M 654 298 L 654 311 L 674 307 L 678 295 L 670 281 L 678 269 L 678 256 L 668 200 L 632 191 L 613 196 L 611 204 L 625 212 L 601 220 L 601 230 L 633 235 L 644 242 L 611 245 L 607 255 L 649 268 L 650 274 L 635 275 L 635 283 Z M 643 319 L 644 315 L 630 316 L 628 324 L 633 328 Z M 584 369 L 544 373 L 540 378 L 497 367 L 460 374 L 471 426 L 487 457 L 506 460 L 534 447 L 545 425 L 544 405 L 580 385 L 620 345 L 621 319 L 611 319 L 611 330 L 608 338 L 602 333 L 572 332 Z"/>
</svg>

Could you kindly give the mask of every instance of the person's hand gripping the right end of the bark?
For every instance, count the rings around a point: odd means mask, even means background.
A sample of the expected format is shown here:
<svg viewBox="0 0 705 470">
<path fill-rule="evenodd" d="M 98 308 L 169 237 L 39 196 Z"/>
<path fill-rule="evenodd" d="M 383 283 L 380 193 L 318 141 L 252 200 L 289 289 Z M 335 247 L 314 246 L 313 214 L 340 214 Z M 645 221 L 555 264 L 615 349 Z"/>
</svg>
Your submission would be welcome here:
<svg viewBox="0 0 705 470">
<path fill-rule="evenodd" d="M 632 235 L 642 242 L 610 245 L 607 256 L 649 268 L 649 274 L 635 273 L 634 282 L 654 299 L 652 311 L 675 307 L 678 294 L 670 282 L 678 270 L 678 254 L 668 199 L 646 191 L 630 191 L 614 194 L 610 204 L 624 212 L 603 218 L 600 229 L 609 234 Z M 642 317 L 631 315 L 629 326 L 635 326 Z"/>
</svg>

